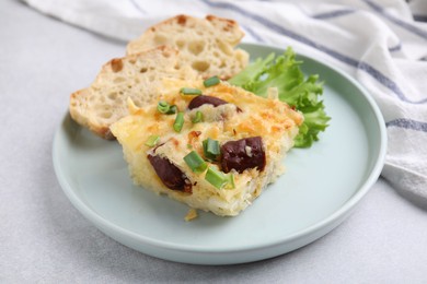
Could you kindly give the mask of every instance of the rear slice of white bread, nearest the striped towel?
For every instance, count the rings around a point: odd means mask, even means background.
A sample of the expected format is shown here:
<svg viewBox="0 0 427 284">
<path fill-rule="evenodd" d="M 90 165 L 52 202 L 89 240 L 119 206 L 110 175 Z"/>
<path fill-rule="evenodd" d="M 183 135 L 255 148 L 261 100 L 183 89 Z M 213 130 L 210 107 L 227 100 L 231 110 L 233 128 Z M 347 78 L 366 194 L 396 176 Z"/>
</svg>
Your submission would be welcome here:
<svg viewBox="0 0 427 284">
<path fill-rule="evenodd" d="M 166 45 L 180 50 L 185 62 L 205 79 L 218 75 L 227 80 L 239 73 L 249 55 L 235 49 L 244 33 L 235 21 L 207 15 L 205 19 L 177 15 L 150 28 L 127 46 L 132 55 Z"/>
</svg>

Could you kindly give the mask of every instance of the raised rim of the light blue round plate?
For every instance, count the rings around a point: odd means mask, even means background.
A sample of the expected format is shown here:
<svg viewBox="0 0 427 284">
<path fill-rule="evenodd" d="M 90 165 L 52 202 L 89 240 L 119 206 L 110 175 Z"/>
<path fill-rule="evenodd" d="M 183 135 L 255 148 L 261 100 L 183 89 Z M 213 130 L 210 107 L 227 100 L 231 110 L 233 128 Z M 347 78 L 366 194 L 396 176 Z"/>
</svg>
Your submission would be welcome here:
<svg viewBox="0 0 427 284">
<path fill-rule="evenodd" d="M 284 48 L 284 47 L 278 47 L 278 46 L 274 46 L 274 45 L 242 43 L 242 44 L 240 44 L 240 47 L 242 47 L 242 49 L 245 49 L 245 47 L 252 47 L 252 48 L 279 49 L 279 50 L 285 51 L 287 46 Z M 77 208 L 78 211 L 85 218 L 91 221 L 91 223 L 93 223 L 93 225 L 99 227 L 107 236 L 113 237 L 109 234 L 107 234 L 105 230 L 103 230 L 102 228 L 108 229 L 108 232 L 111 232 L 111 230 L 116 232 L 122 236 L 126 236 L 126 237 L 128 237 L 132 240 L 136 240 L 138 242 L 142 242 L 142 245 L 145 245 L 145 246 L 151 246 L 151 247 L 159 248 L 159 249 L 172 250 L 175 252 L 191 252 L 191 253 L 233 253 L 233 252 L 245 252 L 245 251 L 247 252 L 247 251 L 253 251 L 253 250 L 262 250 L 262 249 L 273 248 L 273 247 L 277 247 L 277 246 L 282 246 L 285 244 L 296 241 L 296 240 L 301 239 L 303 237 L 315 234 L 316 232 L 320 232 L 327 226 L 332 226 L 330 229 L 326 230 L 326 233 L 328 233 L 337 225 L 336 224 L 335 226 L 333 226 L 334 223 L 337 223 L 337 222 L 341 223 L 341 221 L 344 221 L 345 216 L 355 208 L 355 205 L 357 203 L 359 203 L 359 201 L 363 198 L 363 196 L 366 196 L 367 192 L 369 192 L 370 188 L 374 185 L 374 182 L 379 178 L 381 170 L 382 170 L 382 167 L 384 165 L 385 153 L 386 153 L 388 138 L 386 138 L 385 122 L 384 122 L 383 116 L 381 114 L 381 110 L 380 110 L 379 106 L 377 105 L 377 103 L 374 102 L 373 97 L 358 81 L 353 79 L 350 75 L 348 75 L 347 73 L 345 73 L 341 69 L 334 67 L 333 64 L 330 64 L 330 63 L 326 64 L 324 62 L 321 62 L 320 60 L 307 55 L 307 52 L 298 51 L 296 54 L 297 54 L 297 56 L 305 57 L 305 58 L 316 62 L 318 64 L 324 66 L 324 67 L 333 70 L 334 72 L 338 73 L 339 75 L 342 75 L 346 80 L 348 80 L 351 84 L 354 84 L 360 91 L 359 95 L 362 95 L 363 98 L 369 103 L 370 110 L 374 114 L 376 123 L 378 125 L 378 128 L 380 130 L 379 152 L 378 152 L 378 156 L 376 157 L 376 163 L 372 166 L 372 170 L 368 175 L 368 178 L 361 184 L 360 187 L 358 187 L 355 194 L 353 194 L 337 210 L 335 210 L 332 214 L 327 215 L 323 220 L 321 220 L 321 221 L 319 221 L 319 222 L 316 222 L 316 223 L 314 223 L 305 228 L 299 229 L 299 230 L 288 235 L 286 238 L 282 238 L 280 240 L 270 241 L 270 242 L 265 244 L 265 245 L 253 246 L 253 245 L 249 244 L 249 245 L 240 246 L 236 248 L 224 248 L 224 249 L 218 249 L 218 248 L 209 249 L 208 247 L 199 247 L 199 246 L 192 246 L 192 245 L 187 245 L 187 244 L 175 244 L 175 242 L 169 242 L 169 241 L 163 241 L 163 240 L 157 240 L 157 239 L 152 239 L 151 237 L 141 236 L 135 232 L 131 232 L 129 229 L 120 227 L 120 226 L 116 225 L 114 222 L 111 222 L 109 220 L 101 216 L 94 210 L 92 210 L 88 204 L 85 204 L 77 196 L 73 188 L 68 182 L 67 177 L 65 176 L 65 173 L 64 173 L 61 165 L 60 165 L 59 154 L 57 154 L 57 151 L 59 151 L 58 143 L 59 143 L 61 133 L 64 131 L 64 125 L 66 123 L 67 119 L 71 119 L 69 113 L 67 113 L 62 117 L 61 123 L 59 125 L 58 129 L 55 132 L 54 143 L 53 143 L 53 152 L 51 152 L 54 170 L 55 170 L 55 174 L 57 176 L 57 179 L 59 181 L 59 185 L 60 185 L 62 191 L 66 193 L 67 198 L 70 200 L 70 202 L 73 204 L 73 206 Z M 78 126 L 78 127 L 81 128 L 80 126 Z M 321 236 L 325 235 L 326 233 L 322 234 Z M 116 239 L 115 237 L 113 237 L 113 238 Z M 315 239 L 318 239 L 318 238 L 315 238 Z M 119 241 L 119 240 L 117 240 L 117 241 L 120 244 L 124 244 L 123 241 Z M 309 241 L 304 245 L 308 245 L 310 242 L 311 241 Z M 141 251 L 141 250 L 139 250 L 139 251 Z M 159 256 L 155 256 L 153 253 L 149 253 L 149 252 L 145 252 L 145 251 L 141 251 L 141 252 L 147 253 L 147 255 L 151 255 L 154 257 L 159 257 Z M 288 251 L 285 251 L 281 253 L 276 253 L 276 256 L 282 255 L 286 252 L 288 252 Z M 162 258 L 162 257 L 160 257 L 160 258 Z M 258 260 L 261 260 L 261 259 L 265 259 L 265 258 L 259 258 Z M 186 261 L 182 261 L 182 262 L 186 262 Z M 246 261 L 244 261 L 244 262 L 246 262 Z M 233 263 L 241 263 L 241 262 L 233 262 Z"/>
</svg>

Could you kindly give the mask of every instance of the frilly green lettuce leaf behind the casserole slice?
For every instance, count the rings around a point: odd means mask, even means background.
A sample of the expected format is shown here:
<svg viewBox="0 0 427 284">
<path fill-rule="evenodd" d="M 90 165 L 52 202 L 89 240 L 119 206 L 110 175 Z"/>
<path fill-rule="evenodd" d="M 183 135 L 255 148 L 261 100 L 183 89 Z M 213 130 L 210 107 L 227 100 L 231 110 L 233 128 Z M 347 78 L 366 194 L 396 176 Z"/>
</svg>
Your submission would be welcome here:
<svg viewBox="0 0 427 284">
<path fill-rule="evenodd" d="M 296 147 L 310 147 L 319 140 L 319 133 L 325 131 L 330 117 L 326 115 L 323 100 L 323 84 L 318 75 L 308 78 L 302 73 L 302 61 L 296 60 L 292 48 L 275 58 L 272 54 L 265 59 L 256 59 L 242 72 L 229 80 L 258 96 L 266 96 L 268 87 L 277 87 L 279 99 L 295 107 L 304 116 L 304 122 L 295 139 Z"/>
</svg>

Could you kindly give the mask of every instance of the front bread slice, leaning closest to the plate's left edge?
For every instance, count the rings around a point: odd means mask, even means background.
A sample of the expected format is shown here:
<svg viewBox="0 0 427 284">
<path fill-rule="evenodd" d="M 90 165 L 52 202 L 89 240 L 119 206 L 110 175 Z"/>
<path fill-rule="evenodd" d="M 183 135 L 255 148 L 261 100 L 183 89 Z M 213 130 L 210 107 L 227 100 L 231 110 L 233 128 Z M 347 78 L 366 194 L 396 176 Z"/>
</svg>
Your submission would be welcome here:
<svg viewBox="0 0 427 284">
<path fill-rule="evenodd" d="M 128 97 L 143 106 L 162 90 L 163 78 L 198 76 L 181 61 L 175 49 L 165 46 L 116 58 L 103 66 L 90 87 L 71 94 L 70 115 L 95 134 L 114 139 L 109 126 L 128 115 Z"/>
</svg>

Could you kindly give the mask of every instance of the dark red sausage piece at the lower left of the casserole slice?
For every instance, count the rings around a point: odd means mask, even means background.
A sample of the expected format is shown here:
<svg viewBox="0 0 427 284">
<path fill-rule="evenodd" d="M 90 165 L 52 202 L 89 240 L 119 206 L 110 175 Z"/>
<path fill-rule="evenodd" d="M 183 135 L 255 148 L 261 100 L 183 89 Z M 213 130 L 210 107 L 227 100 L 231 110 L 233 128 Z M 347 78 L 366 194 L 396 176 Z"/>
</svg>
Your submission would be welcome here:
<svg viewBox="0 0 427 284">
<path fill-rule="evenodd" d="M 192 192 L 192 182 L 174 164 L 165 157 L 158 155 L 147 155 L 152 167 L 162 180 L 163 185 L 172 190 Z"/>
</svg>

